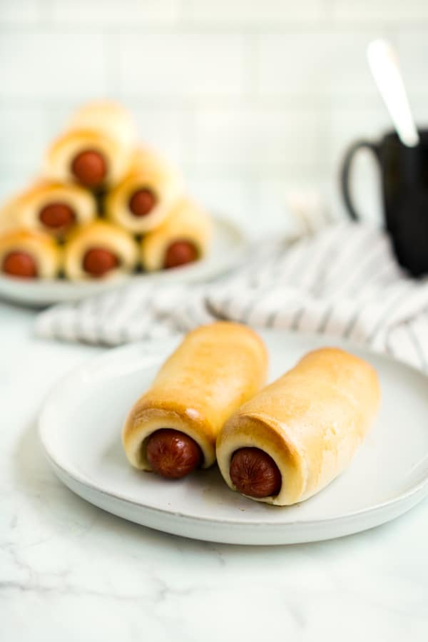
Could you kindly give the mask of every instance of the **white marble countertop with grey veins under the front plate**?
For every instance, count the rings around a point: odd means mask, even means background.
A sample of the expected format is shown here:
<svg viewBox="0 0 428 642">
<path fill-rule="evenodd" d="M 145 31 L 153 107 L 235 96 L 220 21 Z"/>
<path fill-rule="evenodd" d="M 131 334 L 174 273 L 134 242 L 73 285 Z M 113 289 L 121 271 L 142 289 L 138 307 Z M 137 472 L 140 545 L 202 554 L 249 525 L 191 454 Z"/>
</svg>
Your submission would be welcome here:
<svg viewBox="0 0 428 642">
<path fill-rule="evenodd" d="M 99 350 L 36 340 L 33 320 L 0 303 L 1 640 L 427 641 L 427 501 L 362 534 L 268 548 L 161 534 L 74 496 L 36 416 Z"/>
</svg>

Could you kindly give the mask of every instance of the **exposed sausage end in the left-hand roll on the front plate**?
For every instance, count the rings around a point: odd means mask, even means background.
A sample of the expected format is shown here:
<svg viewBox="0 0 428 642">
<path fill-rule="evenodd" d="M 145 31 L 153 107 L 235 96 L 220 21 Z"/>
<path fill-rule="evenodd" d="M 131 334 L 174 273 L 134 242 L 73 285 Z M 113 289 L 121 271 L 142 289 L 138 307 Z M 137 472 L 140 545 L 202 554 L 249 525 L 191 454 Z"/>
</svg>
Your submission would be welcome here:
<svg viewBox="0 0 428 642">
<path fill-rule="evenodd" d="M 184 432 L 163 428 L 148 438 L 147 459 L 158 474 L 180 479 L 200 465 L 202 452 L 195 440 Z"/>
</svg>

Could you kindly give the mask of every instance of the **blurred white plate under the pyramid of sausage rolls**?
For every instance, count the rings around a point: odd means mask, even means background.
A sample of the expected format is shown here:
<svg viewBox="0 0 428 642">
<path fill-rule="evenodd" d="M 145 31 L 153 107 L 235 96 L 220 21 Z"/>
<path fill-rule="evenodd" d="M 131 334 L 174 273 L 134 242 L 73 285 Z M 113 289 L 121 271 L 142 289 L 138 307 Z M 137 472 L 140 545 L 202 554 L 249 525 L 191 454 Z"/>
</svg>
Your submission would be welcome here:
<svg viewBox="0 0 428 642">
<path fill-rule="evenodd" d="M 200 261 L 161 272 L 122 275 L 114 279 L 73 282 L 65 279 L 33 281 L 0 276 L 0 297 L 24 305 L 43 306 L 82 299 L 120 287 L 129 280 L 195 282 L 230 270 L 242 260 L 246 242 L 242 231 L 229 220 L 213 219 L 214 234 L 208 255 Z"/>
</svg>

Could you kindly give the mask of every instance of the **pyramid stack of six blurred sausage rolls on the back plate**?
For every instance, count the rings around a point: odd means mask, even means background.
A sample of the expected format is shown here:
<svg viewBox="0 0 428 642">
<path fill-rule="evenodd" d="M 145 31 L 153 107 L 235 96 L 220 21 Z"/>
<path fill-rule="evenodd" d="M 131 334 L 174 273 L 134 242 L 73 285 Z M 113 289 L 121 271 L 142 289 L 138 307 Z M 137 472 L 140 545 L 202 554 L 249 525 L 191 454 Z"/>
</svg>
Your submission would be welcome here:
<svg viewBox="0 0 428 642">
<path fill-rule="evenodd" d="M 73 113 L 39 178 L 0 210 L 0 272 L 81 281 L 165 270 L 203 258 L 208 214 L 178 169 L 137 143 L 110 101 Z"/>
</svg>

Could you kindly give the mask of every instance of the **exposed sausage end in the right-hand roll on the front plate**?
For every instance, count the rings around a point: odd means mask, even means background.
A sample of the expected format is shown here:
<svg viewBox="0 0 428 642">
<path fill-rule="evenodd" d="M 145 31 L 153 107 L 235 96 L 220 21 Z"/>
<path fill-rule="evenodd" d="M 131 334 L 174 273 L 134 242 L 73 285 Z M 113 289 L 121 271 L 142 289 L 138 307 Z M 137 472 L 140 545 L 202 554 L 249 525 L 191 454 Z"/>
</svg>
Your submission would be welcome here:
<svg viewBox="0 0 428 642">
<path fill-rule="evenodd" d="M 256 498 L 277 495 L 282 482 L 272 457 L 260 448 L 240 448 L 233 454 L 230 479 L 240 493 Z"/>
</svg>

